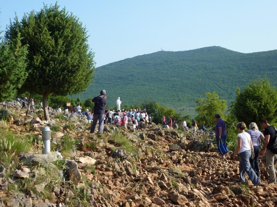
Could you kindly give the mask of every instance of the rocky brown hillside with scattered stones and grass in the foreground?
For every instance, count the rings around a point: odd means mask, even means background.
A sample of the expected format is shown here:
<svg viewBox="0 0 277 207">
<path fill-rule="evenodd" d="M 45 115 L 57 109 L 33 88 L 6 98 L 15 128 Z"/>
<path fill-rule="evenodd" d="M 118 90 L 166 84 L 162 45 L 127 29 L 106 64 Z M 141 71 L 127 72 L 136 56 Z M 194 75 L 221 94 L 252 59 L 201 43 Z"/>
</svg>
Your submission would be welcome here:
<svg viewBox="0 0 277 207">
<path fill-rule="evenodd" d="M 0 206 L 276 206 L 277 184 L 237 182 L 239 162 L 221 159 L 213 132 L 107 125 L 11 105 L 0 122 Z M 42 127 L 51 153 L 41 155 Z M 28 152 L 28 153 L 23 153 Z"/>
</svg>

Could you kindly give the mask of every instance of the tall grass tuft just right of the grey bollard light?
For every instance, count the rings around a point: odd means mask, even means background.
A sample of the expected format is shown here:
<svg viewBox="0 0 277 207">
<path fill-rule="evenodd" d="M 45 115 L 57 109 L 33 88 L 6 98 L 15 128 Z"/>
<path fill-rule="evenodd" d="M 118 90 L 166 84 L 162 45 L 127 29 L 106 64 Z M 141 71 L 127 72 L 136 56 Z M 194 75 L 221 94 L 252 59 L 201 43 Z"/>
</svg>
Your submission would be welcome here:
<svg viewBox="0 0 277 207">
<path fill-rule="evenodd" d="M 78 144 L 79 140 L 75 140 L 69 134 L 65 134 L 62 136 L 62 156 L 65 158 L 70 157 L 71 153 L 76 150 L 76 144 Z"/>
</svg>

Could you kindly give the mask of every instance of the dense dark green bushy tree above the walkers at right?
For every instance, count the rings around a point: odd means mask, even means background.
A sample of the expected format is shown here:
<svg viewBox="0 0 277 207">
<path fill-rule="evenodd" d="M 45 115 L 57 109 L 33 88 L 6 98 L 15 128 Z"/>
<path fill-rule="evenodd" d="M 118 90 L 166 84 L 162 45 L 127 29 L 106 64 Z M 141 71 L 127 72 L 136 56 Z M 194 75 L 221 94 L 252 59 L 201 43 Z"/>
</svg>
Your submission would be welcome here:
<svg viewBox="0 0 277 207">
<path fill-rule="evenodd" d="M 262 118 L 271 122 L 277 120 L 277 90 L 268 78 L 254 80 L 242 91 L 237 88 L 236 93 L 231 112 L 238 121 L 249 125 L 251 122 L 259 123 Z"/>
</svg>

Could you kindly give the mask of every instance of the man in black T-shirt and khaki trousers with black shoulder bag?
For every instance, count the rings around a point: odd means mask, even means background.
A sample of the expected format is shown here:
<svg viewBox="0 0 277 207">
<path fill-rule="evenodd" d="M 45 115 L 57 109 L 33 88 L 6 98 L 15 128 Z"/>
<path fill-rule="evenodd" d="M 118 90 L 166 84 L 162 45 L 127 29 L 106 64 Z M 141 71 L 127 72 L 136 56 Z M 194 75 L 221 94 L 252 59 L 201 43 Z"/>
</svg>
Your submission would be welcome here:
<svg viewBox="0 0 277 207">
<path fill-rule="evenodd" d="M 266 165 L 267 172 L 269 174 L 269 183 L 276 183 L 276 174 L 274 169 L 275 154 L 270 151 L 270 147 L 272 147 L 277 142 L 276 129 L 274 126 L 269 125 L 266 119 L 262 119 L 260 125 L 264 129 L 264 145 L 259 155 L 263 156 L 261 159 Z M 267 151 L 265 152 L 266 149 Z"/>
</svg>

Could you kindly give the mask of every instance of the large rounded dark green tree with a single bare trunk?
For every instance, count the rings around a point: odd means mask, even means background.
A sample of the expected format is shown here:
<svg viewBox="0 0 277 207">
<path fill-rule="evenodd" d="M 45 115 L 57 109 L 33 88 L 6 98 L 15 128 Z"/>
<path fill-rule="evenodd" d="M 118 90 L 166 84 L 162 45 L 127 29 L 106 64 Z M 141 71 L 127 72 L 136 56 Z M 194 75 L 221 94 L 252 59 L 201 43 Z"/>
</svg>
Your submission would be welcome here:
<svg viewBox="0 0 277 207">
<path fill-rule="evenodd" d="M 10 24 L 7 40 L 14 39 L 13 31 Z M 25 14 L 19 31 L 22 44 L 29 45 L 29 73 L 22 89 L 43 95 L 44 117 L 49 120 L 47 98 L 51 93 L 61 96 L 80 93 L 90 85 L 95 64 L 86 28 L 56 3 Z"/>
</svg>

